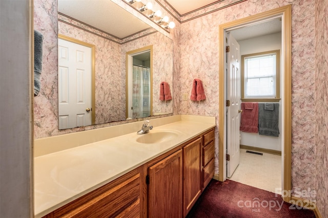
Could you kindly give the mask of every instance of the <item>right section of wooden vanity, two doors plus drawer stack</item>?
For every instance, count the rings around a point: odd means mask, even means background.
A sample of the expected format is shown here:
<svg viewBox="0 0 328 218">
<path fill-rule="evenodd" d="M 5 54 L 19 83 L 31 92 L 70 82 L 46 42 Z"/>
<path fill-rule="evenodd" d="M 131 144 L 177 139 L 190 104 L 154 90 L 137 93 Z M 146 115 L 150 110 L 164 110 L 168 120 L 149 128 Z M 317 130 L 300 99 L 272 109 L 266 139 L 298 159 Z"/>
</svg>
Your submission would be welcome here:
<svg viewBox="0 0 328 218">
<path fill-rule="evenodd" d="M 186 217 L 214 176 L 214 128 L 156 159 L 147 166 L 148 217 Z"/>
</svg>

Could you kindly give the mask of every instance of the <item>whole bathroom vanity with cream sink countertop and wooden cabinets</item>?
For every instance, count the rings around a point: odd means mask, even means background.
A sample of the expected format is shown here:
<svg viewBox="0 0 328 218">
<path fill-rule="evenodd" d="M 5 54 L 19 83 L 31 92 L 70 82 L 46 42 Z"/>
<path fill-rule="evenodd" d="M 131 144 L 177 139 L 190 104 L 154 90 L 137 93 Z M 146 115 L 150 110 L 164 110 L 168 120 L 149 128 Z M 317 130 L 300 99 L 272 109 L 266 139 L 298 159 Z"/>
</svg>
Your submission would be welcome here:
<svg viewBox="0 0 328 218">
<path fill-rule="evenodd" d="M 35 157 L 35 216 L 185 217 L 214 176 L 215 118 L 151 123 L 144 135 Z"/>
</svg>

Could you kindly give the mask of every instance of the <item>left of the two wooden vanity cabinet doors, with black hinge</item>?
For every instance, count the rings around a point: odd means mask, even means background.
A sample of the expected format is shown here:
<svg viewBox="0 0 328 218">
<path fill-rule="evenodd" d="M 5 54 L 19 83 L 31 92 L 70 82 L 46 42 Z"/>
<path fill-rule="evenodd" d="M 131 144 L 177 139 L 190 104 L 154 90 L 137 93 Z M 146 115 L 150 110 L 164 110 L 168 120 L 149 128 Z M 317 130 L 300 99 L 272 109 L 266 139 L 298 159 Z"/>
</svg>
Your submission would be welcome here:
<svg viewBox="0 0 328 218">
<path fill-rule="evenodd" d="M 182 150 L 148 168 L 148 217 L 182 216 Z"/>
</svg>

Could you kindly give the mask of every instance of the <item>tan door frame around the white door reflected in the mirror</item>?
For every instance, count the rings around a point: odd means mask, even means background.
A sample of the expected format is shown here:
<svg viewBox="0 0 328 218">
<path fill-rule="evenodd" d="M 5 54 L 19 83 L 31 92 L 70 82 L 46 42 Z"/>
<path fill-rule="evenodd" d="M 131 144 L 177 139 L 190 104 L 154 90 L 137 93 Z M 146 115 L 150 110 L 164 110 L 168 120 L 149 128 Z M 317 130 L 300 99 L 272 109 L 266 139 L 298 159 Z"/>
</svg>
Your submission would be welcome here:
<svg viewBox="0 0 328 218">
<path fill-rule="evenodd" d="M 76 43 L 81 46 L 89 47 L 91 49 L 91 125 L 95 125 L 96 121 L 96 91 L 95 91 L 95 62 L 96 62 L 96 55 L 95 55 L 95 45 L 92 45 L 88 42 L 81 41 L 63 34 L 58 33 L 58 39 L 63 39 L 66 41 L 70 41 Z M 59 106 L 59 105 L 58 105 Z M 59 112 L 58 112 L 59 113 Z"/>
</svg>

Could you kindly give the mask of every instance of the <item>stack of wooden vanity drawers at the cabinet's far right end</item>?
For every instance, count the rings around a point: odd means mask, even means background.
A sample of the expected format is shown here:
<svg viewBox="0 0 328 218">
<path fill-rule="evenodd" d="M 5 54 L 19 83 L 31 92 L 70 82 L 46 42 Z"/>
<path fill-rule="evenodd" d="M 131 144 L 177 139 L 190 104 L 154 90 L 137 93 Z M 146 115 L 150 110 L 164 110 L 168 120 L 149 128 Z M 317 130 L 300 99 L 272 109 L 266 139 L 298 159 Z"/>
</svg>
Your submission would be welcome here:
<svg viewBox="0 0 328 218">
<path fill-rule="evenodd" d="M 214 129 L 203 135 L 202 159 L 202 190 L 204 190 L 214 176 Z"/>
</svg>

